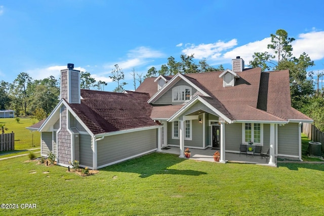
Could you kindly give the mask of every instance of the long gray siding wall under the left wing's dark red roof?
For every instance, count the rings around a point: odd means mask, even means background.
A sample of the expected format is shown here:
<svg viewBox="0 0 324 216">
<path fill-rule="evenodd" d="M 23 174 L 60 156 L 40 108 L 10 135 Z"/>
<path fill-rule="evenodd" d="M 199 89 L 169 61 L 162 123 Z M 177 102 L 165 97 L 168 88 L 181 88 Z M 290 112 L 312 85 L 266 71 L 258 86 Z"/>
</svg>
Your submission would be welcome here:
<svg viewBox="0 0 324 216">
<path fill-rule="evenodd" d="M 156 150 L 156 129 L 106 136 L 97 142 L 98 167 Z"/>
</svg>

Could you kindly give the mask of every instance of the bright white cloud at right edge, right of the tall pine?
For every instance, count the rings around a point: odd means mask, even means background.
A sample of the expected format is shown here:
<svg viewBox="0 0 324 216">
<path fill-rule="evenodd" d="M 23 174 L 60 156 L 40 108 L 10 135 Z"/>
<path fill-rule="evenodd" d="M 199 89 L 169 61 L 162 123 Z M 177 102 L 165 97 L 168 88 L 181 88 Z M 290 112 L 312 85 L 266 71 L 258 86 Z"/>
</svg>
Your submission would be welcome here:
<svg viewBox="0 0 324 216">
<path fill-rule="evenodd" d="M 296 57 L 305 52 L 313 61 L 322 59 L 324 58 L 324 31 L 301 33 L 292 45 Z"/>
</svg>

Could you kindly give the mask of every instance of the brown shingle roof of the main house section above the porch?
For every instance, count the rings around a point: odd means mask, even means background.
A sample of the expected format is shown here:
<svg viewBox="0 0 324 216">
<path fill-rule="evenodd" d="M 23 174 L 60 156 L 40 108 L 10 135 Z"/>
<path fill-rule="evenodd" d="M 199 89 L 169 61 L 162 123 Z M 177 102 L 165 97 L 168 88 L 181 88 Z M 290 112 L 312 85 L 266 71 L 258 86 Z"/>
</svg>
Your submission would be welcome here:
<svg viewBox="0 0 324 216">
<path fill-rule="evenodd" d="M 211 97 L 204 96 L 204 99 L 231 120 L 311 120 L 291 107 L 288 70 L 261 73 L 261 68 L 248 68 L 236 73 L 240 78 L 236 79 L 235 85 L 230 87 L 223 87 L 223 79 L 219 78 L 222 72 L 214 71 L 184 76 L 208 93 Z M 136 91 L 147 92 L 152 97 L 157 92 L 154 79 L 145 79 Z M 168 107 L 172 110 L 176 108 L 169 105 L 154 109 L 167 112 Z M 161 116 L 167 116 L 163 112 L 156 111 L 152 116 L 157 118 L 158 113 Z"/>
</svg>

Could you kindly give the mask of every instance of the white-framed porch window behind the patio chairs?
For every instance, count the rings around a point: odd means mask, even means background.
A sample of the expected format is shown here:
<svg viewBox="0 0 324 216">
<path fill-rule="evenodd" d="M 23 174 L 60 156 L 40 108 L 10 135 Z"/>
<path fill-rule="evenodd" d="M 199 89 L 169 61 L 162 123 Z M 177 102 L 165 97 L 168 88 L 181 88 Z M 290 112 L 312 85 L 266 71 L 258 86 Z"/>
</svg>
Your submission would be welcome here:
<svg viewBox="0 0 324 216">
<path fill-rule="evenodd" d="M 253 143 L 263 145 L 263 124 L 260 123 L 245 123 L 243 124 L 244 142 L 248 143 L 250 140 Z"/>
</svg>

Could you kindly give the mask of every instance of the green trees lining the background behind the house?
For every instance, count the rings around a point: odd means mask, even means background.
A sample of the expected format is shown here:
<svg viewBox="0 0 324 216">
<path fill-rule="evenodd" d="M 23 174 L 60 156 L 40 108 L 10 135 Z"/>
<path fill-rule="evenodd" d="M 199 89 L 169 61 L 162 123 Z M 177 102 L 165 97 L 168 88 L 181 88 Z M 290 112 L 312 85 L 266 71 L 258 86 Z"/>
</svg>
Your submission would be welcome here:
<svg viewBox="0 0 324 216">
<path fill-rule="evenodd" d="M 313 71 L 307 71 L 314 62 L 304 52 L 300 56 L 292 54 L 292 42 L 284 29 L 278 29 L 275 34 L 270 34 L 271 43 L 267 45 L 269 52 L 254 53 L 251 67 L 261 67 L 262 71 L 289 69 L 292 106 L 314 119 L 315 126 L 324 131 L 324 99 L 323 88 L 314 89 Z M 271 53 L 271 54 L 270 54 Z M 213 67 L 206 59 L 198 63 L 194 61 L 194 54 L 180 55 L 180 61 L 170 56 L 167 63 L 159 69 L 151 67 L 145 75 L 139 74 L 133 68 L 133 85 L 141 84 L 145 78 L 159 75 L 169 76 L 191 73 L 204 73 L 208 71 L 224 70 L 222 65 Z M 320 74 L 317 73 L 317 84 Z M 123 92 L 125 85 L 124 71 L 114 65 L 109 78 L 117 84 L 114 92 Z M 80 73 L 80 87 L 82 89 L 98 88 L 104 91 L 107 83 L 91 77 L 87 71 Z M 279 87 L 278 87 L 279 88 Z M 59 82 L 53 76 L 43 80 L 33 80 L 27 73 L 20 73 L 13 83 L 1 81 L 0 83 L 0 110 L 11 109 L 16 115 L 35 115 L 38 119 L 47 117 L 59 99 Z"/>
</svg>

